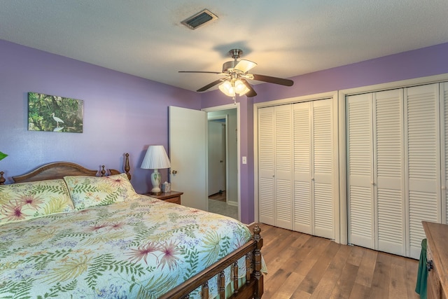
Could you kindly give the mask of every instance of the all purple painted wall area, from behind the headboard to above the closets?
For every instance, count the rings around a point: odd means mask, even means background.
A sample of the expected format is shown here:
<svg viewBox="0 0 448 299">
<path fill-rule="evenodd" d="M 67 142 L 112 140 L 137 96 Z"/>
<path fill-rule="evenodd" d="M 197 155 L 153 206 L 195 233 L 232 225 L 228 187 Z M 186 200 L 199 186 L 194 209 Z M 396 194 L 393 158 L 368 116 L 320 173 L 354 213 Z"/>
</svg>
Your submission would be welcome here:
<svg viewBox="0 0 448 299">
<path fill-rule="evenodd" d="M 0 169 L 6 169 L 8 182 L 30 166 L 57 160 L 123 169 L 123 154 L 130 153 L 132 184 L 146 192 L 151 171 L 139 167 L 148 145 L 167 147 L 167 106 L 201 109 L 231 103 L 218 90 L 197 94 L 7 41 L 0 41 L 0 53 L 0 151 L 9 155 Z M 253 103 L 445 74 L 446 53 L 448 43 L 296 76 L 290 88 L 255 85 L 258 96 L 242 97 L 240 105 L 240 152 L 248 158 L 241 165 L 241 221 L 254 220 Z M 83 134 L 27 131 L 31 91 L 83 99 Z"/>
</svg>

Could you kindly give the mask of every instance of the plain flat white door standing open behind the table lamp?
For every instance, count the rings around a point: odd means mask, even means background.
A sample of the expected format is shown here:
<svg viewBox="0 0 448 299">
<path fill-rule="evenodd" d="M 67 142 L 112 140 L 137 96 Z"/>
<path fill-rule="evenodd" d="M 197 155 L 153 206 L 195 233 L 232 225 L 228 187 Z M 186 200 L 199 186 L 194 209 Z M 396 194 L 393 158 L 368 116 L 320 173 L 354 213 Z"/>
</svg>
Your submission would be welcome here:
<svg viewBox="0 0 448 299">
<path fill-rule="evenodd" d="M 169 106 L 169 158 L 182 204 L 207 211 L 207 113 Z"/>
</svg>

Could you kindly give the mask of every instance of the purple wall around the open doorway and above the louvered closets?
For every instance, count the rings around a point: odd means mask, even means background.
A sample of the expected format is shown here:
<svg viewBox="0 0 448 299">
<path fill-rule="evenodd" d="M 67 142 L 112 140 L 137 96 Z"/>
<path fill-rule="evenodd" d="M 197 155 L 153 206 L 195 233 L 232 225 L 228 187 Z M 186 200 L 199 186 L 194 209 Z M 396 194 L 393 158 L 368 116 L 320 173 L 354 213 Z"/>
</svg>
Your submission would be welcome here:
<svg viewBox="0 0 448 299">
<path fill-rule="evenodd" d="M 251 223 L 254 220 L 253 103 L 447 74 L 447 53 L 448 43 L 442 43 L 428 48 L 295 76 L 291 78 L 294 81 L 292 87 L 268 83 L 258 84 L 254 87 L 258 95 L 253 99 L 248 101 L 246 97 L 237 97 L 237 102 L 241 102 L 241 156 L 247 154 L 248 161 L 247 165 L 241 164 L 241 221 Z M 202 94 L 202 108 L 228 104 L 230 101 L 230 97 L 225 97 L 219 90 Z"/>
</svg>

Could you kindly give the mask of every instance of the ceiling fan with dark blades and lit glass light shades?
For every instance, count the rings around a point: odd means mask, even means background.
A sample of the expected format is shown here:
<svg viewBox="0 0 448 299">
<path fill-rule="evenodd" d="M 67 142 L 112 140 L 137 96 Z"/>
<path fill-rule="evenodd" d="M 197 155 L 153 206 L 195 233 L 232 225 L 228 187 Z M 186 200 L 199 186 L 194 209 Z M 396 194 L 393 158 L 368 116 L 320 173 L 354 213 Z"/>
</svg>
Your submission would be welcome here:
<svg viewBox="0 0 448 299">
<path fill-rule="evenodd" d="M 179 73 L 207 73 L 207 74 L 220 74 L 223 75 L 224 78 L 219 78 L 212 83 L 205 85 L 204 87 L 197 90 L 197 92 L 203 92 L 208 90 L 209 88 L 214 87 L 215 85 L 221 83 L 218 88 L 229 97 L 233 97 L 235 101 L 235 95 L 238 94 L 246 95 L 247 97 L 255 97 L 257 92 L 253 90 L 251 84 L 248 83 L 247 80 L 255 80 L 255 81 L 263 81 L 267 83 L 274 83 L 285 86 L 292 86 L 294 81 L 283 78 L 276 78 L 265 75 L 258 74 L 250 74 L 250 71 L 257 64 L 255 62 L 251 62 L 249 60 L 239 60 L 243 51 L 240 49 L 232 49 L 229 51 L 229 55 L 234 59 L 228 62 L 224 62 L 223 71 L 179 71 Z"/>
</svg>

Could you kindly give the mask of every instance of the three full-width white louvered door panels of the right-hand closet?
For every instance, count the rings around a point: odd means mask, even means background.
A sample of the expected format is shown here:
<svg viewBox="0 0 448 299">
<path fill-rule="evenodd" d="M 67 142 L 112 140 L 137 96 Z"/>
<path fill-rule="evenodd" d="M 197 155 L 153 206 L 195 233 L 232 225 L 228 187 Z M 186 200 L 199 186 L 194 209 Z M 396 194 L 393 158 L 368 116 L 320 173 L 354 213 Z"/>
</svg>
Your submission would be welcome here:
<svg viewBox="0 0 448 299">
<path fill-rule="evenodd" d="M 419 258 L 421 221 L 440 221 L 438 85 L 353 95 L 347 105 L 349 242 Z"/>
</svg>

